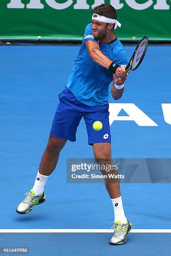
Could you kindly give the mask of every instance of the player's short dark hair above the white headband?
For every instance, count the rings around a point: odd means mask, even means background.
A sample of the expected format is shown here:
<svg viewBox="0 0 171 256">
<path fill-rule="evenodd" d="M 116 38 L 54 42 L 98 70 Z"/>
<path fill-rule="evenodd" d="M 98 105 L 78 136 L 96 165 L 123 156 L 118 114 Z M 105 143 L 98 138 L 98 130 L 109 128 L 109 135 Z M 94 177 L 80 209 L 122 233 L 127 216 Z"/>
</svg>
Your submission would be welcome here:
<svg viewBox="0 0 171 256">
<path fill-rule="evenodd" d="M 102 4 L 94 7 L 94 9 L 92 9 L 92 13 L 97 13 L 110 19 L 117 19 L 115 8 L 109 4 Z"/>
</svg>

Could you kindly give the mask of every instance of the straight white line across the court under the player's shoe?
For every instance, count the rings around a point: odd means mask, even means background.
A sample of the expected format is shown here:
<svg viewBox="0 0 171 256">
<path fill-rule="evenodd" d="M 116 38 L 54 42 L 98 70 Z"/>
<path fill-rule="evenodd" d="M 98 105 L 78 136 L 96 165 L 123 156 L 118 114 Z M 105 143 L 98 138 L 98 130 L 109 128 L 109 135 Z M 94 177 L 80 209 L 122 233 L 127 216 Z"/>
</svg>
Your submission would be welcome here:
<svg viewBox="0 0 171 256">
<path fill-rule="evenodd" d="M 0 233 L 113 233 L 112 229 L 0 229 Z M 130 233 L 171 233 L 171 229 L 132 229 Z"/>
</svg>

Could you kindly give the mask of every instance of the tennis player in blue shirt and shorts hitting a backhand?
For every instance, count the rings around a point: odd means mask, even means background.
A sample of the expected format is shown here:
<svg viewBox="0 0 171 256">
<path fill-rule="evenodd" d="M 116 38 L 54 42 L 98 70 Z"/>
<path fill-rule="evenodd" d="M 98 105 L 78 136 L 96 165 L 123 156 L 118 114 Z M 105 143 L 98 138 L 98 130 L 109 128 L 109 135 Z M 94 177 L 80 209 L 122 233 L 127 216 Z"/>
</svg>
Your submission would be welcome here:
<svg viewBox="0 0 171 256">
<path fill-rule="evenodd" d="M 54 171 L 59 153 L 66 141 L 76 141 L 77 127 L 82 118 L 86 123 L 88 143 L 93 146 L 95 159 L 98 163 L 99 159 L 108 159 L 105 163 L 112 164 L 108 111 L 109 84 L 113 81 L 112 97 L 115 100 L 120 99 L 128 75 L 124 67 L 127 64 L 127 57 L 123 45 L 114 33 L 117 26 L 121 27 L 114 7 L 102 4 L 95 7 L 92 13 L 92 23 L 85 29 L 67 86 L 58 95 L 60 102 L 35 184 L 18 205 L 17 213 L 28 213 L 35 205 L 45 202 L 45 183 Z M 92 128 L 97 120 L 103 124 L 102 130 L 98 132 Z M 100 164 L 104 163 L 101 161 Z M 106 182 L 105 185 L 114 207 L 114 234 L 109 243 L 123 244 L 132 225 L 124 214 L 119 182 Z"/>
</svg>

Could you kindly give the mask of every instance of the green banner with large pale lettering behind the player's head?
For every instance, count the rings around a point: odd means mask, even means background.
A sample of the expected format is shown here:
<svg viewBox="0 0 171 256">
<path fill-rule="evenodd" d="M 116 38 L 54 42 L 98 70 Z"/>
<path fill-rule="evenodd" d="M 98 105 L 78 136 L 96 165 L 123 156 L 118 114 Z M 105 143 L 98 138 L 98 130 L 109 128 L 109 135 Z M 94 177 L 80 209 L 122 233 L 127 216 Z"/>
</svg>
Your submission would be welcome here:
<svg viewBox="0 0 171 256">
<path fill-rule="evenodd" d="M 116 8 L 121 40 L 171 41 L 171 0 L 2 0 L 0 40 L 82 40 L 101 3 Z"/>
</svg>

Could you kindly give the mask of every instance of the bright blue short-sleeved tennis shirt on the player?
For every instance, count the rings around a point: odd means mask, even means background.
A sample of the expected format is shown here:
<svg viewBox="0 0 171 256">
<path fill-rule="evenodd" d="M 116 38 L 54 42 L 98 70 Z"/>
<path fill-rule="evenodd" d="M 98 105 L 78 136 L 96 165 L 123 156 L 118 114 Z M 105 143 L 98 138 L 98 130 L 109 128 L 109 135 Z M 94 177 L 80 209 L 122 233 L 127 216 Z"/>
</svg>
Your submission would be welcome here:
<svg viewBox="0 0 171 256">
<path fill-rule="evenodd" d="M 109 84 L 113 81 L 113 74 L 89 57 L 85 45 L 88 40 L 99 44 L 92 35 L 92 23 L 88 24 L 85 29 L 82 45 L 67 83 L 67 89 L 73 93 L 77 100 L 88 106 L 102 106 L 108 103 Z M 117 37 L 109 44 L 99 44 L 99 47 L 100 51 L 115 63 L 127 64 L 126 50 Z"/>
</svg>

